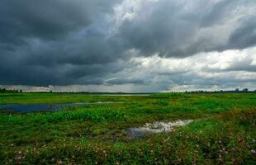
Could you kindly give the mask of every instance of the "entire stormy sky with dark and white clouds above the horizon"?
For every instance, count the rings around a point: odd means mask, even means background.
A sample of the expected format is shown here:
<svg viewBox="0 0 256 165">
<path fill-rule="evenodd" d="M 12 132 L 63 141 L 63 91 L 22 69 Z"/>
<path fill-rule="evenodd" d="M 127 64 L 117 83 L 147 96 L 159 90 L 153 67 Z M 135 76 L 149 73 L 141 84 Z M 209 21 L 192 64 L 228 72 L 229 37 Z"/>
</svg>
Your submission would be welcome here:
<svg viewBox="0 0 256 165">
<path fill-rule="evenodd" d="M 255 0 L 1 0 L 0 86 L 256 89 Z"/>
</svg>

